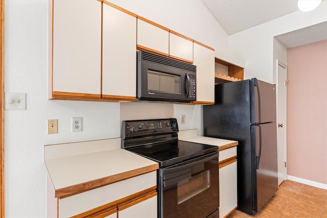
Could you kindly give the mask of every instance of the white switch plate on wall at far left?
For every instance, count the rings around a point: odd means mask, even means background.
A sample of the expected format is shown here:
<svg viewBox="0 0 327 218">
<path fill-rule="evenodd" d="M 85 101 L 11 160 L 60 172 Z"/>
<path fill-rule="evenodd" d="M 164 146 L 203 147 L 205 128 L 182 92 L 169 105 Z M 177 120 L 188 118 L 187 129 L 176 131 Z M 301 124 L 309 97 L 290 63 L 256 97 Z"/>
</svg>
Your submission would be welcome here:
<svg viewBox="0 0 327 218">
<path fill-rule="evenodd" d="M 5 110 L 26 110 L 26 93 L 5 92 Z"/>
</svg>

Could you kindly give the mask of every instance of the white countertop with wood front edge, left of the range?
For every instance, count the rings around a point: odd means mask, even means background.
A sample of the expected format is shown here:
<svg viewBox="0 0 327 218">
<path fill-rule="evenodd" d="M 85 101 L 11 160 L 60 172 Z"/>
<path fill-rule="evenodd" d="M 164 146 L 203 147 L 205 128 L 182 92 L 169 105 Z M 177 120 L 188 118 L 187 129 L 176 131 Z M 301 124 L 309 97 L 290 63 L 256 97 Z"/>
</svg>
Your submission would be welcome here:
<svg viewBox="0 0 327 218">
<path fill-rule="evenodd" d="M 88 182 L 91 185 L 102 186 L 105 184 L 98 183 L 104 181 L 112 183 L 115 182 L 115 179 L 122 180 L 124 177 L 132 177 L 133 171 L 136 172 L 135 174 L 146 172 L 147 167 L 149 172 L 158 168 L 157 162 L 121 149 L 120 140 L 118 139 L 101 141 L 101 149 L 94 146 L 98 142 L 99 140 L 44 146 L 44 162 L 55 190 L 83 183 L 85 184 L 84 187 L 88 187 Z M 93 148 L 96 152 L 84 151 L 84 153 L 81 153 L 77 149 L 77 143 L 84 150 L 88 147 Z M 104 143 L 107 144 L 107 148 L 106 145 L 103 147 Z M 75 149 L 76 154 L 69 153 L 68 156 L 53 155 L 54 153 L 65 154 L 68 150 L 73 151 L 72 148 Z M 128 172 L 130 173 L 126 174 Z"/>
</svg>

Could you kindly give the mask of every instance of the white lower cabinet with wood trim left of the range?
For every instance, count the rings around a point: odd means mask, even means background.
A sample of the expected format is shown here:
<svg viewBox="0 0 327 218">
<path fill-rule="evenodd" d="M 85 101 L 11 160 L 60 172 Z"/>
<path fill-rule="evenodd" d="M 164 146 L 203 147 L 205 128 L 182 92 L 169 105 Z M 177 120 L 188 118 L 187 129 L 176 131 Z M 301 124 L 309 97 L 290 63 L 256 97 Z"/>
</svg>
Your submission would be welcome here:
<svg viewBox="0 0 327 218">
<path fill-rule="evenodd" d="M 154 171 L 61 198 L 58 217 L 156 217 L 156 176 Z"/>
</svg>

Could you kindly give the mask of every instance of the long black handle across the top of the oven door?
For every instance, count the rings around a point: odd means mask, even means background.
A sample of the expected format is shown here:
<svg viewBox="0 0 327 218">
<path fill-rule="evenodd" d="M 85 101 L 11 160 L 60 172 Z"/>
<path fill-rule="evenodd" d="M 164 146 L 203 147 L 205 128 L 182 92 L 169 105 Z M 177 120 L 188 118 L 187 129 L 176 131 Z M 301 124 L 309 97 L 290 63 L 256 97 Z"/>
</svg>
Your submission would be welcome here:
<svg viewBox="0 0 327 218">
<path fill-rule="evenodd" d="M 219 157 L 218 152 L 211 153 L 211 154 L 208 154 L 208 155 L 205 155 L 205 156 L 201 156 L 201 157 L 198 157 L 198 158 L 191 159 L 191 160 L 187 161 L 186 163 L 179 163 L 179 164 L 176 164 L 176 165 L 173 165 L 173 166 L 169 166 L 167 168 L 163 168 L 162 173 L 166 174 L 166 173 L 172 173 L 172 172 L 175 172 L 175 171 L 181 171 L 182 169 L 189 168 L 189 167 L 198 165 L 200 163 L 204 163 L 204 162 L 206 162 L 208 160 L 212 160 L 212 159 L 218 158 L 218 157 Z"/>
</svg>

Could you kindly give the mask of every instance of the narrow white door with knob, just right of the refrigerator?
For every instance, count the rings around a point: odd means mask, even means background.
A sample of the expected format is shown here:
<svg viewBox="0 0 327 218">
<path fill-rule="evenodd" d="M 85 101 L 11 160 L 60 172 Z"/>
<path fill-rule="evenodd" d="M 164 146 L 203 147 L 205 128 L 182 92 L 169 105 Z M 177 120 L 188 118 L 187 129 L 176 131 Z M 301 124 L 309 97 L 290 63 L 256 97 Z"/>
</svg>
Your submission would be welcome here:
<svg viewBox="0 0 327 218">
<path fill-rule="evenodd" d="M 286 88 L 287 66 L 277 61 L 277 161 L 278 185 L 286 180 Z"/>
</svg>

